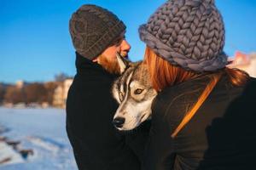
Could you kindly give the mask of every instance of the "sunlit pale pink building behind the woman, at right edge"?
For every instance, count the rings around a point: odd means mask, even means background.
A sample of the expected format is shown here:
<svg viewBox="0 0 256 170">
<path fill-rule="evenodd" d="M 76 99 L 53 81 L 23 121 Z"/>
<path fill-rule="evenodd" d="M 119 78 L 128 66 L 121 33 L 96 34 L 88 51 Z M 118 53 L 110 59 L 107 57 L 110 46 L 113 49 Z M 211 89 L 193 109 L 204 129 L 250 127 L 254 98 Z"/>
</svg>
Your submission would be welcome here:
<svg viewBox="0 0 256 170">
<path fill-rule="evenodd" d="M 231 60 L 232 63 L 228 65 L 230 68 L 247 71 L 251 77 L 256 77 L 256 53 L 243 54 L 238 51 Z"/>
</svg>

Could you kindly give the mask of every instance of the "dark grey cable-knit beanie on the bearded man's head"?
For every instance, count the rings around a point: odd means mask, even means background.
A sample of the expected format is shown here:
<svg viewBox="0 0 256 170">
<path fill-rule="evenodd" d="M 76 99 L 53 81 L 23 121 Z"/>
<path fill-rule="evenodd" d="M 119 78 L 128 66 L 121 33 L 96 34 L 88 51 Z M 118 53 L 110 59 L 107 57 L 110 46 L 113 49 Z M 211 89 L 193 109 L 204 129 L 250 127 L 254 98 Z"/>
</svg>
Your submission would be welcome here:
<svg viewBox="0 0 256 170">
<path fill-rule="evenodd" d="M 69 21 L 69 31 L 76 51 L 94 59 L 125 31 L 125 24 L 105 8 L 83 5 Z"/>
</svg>

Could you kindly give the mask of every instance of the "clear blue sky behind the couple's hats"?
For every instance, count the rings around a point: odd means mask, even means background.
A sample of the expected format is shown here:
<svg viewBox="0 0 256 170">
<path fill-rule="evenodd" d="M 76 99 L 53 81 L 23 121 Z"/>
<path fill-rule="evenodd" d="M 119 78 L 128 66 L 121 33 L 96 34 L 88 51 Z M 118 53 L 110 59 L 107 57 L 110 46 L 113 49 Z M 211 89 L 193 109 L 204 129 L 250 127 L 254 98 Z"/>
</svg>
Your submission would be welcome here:
<svg viewBox="0 0 256 170">
<path fill-rule="evenodd" d="M 127 26 L 131 60 L 143 59 L 145 45 L 137 28 L 165 0 L 1 0 L 0 82 L 44 82 L 61 72 L 76 73 L 74 49 L 68 32 L 71 14 L 84 3 L 94 3 L 117 14 Z M 256 51 L 256 0 L 215 0 L 224 17 L 224 50 Z"/>
</svg>

